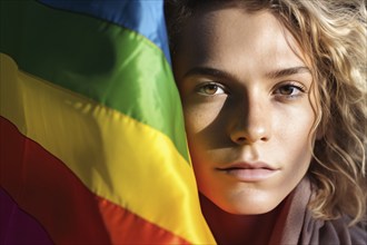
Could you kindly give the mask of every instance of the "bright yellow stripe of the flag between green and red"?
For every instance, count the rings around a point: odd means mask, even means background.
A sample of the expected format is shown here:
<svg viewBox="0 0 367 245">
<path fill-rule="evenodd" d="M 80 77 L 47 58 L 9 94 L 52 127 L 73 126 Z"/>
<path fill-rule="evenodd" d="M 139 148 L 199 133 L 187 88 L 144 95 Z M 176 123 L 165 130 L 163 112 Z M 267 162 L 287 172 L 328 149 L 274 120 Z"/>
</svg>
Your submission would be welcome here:
<svg viewBox="0 0 367 245">
<path fill-rule="evenodd" d="M 194 244 L 214 244 L 190 165 L 153 128 L 18 70 L 0 55 L 0 115 L 97 195 Z"/>
</svg>

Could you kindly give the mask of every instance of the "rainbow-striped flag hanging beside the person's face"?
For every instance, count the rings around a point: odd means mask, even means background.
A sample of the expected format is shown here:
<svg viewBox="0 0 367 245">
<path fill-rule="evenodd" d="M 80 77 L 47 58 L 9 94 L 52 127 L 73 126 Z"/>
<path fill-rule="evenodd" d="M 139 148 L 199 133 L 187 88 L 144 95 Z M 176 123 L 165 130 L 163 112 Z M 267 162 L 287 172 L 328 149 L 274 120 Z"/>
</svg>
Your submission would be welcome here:
<svg viewBox="0 0 367 245">
<path fill-rule="evenodd" d="M 0 4 L 0 244 L 214 244 L 162 1 Z"/>
</svg>

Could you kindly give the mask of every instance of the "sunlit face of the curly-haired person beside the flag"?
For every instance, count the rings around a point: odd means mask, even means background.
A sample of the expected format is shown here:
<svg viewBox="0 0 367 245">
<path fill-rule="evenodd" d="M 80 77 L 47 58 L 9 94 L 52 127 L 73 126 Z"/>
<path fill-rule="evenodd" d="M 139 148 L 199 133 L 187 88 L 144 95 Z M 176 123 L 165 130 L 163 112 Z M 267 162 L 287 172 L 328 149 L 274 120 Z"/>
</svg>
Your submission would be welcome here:
<svg viewBox="0 0 367 245">
<path fill-rule="evenodd" d="M 187 21 L 175 77 L 201 194 L 232 214 L 275 208 L 305 176 L 311 74 L 268 12 L 204 10 Z"/>
</svg>

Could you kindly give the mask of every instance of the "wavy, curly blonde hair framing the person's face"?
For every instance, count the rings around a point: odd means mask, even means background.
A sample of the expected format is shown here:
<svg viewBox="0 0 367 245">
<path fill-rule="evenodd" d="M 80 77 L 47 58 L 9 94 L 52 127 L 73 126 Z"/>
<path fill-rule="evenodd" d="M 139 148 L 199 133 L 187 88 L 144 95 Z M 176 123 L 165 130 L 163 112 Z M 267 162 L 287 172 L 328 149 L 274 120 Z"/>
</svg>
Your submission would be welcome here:
<svg viewBox="0 0 367 245">
<path fill-rule="evenodd" d="M 314 71 L 317 119 L 308 175 L 316 218 L 366 218 L 366 2 L 365 0 L 168 0 L 166 16 L 175 52 L 185 20 L 204 4 L 236 4 L 272 12 L 297 40 Z M 315 134 L 314 134 L 315 133 Z"/>
</svg>

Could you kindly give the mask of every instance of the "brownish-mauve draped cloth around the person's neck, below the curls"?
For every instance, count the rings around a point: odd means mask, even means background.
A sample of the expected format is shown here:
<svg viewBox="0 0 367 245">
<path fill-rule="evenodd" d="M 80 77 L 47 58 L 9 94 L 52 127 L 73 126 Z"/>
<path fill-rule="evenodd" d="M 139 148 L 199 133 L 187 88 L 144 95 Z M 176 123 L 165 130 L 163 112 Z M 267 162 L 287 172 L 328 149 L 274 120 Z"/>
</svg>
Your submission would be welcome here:
<svg viewBox="0 0 367 245">
<path fill-rule="evenodd" d="M 361 225 L 348 227 L 346 216 L 333 220 L 314 218 L 307 208 L 311 197 L 311 184 L 306 177 L 287 198 L 269 244 L 367 244 L 366 229 Z"/>
</svg>

